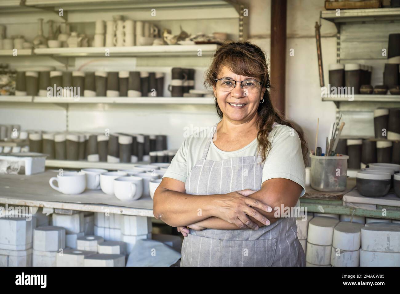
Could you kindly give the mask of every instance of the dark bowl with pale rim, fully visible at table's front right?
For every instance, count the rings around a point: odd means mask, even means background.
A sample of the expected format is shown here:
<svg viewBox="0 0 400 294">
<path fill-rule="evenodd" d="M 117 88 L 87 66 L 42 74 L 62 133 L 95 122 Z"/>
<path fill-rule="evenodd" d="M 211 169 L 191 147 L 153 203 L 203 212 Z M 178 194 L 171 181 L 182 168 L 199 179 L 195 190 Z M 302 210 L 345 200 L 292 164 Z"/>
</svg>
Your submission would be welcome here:
<svg viewBox="0 0 400 294">
<path fill-rule="evenodd" d="M 392 176 L 388 172 L 378 170 L 362 170 L 357 172 L 356 187 L 362 196 L 379 198 L 388 194 Z"/>
</svg>

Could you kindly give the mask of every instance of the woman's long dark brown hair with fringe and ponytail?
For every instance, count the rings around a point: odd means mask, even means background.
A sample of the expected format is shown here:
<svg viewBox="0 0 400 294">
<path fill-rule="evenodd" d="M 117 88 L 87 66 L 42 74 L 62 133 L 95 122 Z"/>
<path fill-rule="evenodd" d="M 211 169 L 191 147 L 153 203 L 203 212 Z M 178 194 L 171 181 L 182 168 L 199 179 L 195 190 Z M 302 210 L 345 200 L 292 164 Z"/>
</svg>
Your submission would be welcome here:
<svg viewBox="0 0 400 294">
<path fill-rule="evenodd" d="M 272 130 L 274 122 L 294 128 L 293 124 L 285 119 L 279 112 L 272 106 L 270 99 L 270 76 L 268 74 L 268 64 L 266 62 L 265 54 L 257 45 L 250 42 L 226 42 L 214 54 L 210 68 L 206 72 L 205 84 L 206 86 L 215 86 L 215 79 L 222 66 L 226 66 L 235 74 L 242 76 L 252 76 L 262 81 L 262 87 L 267 90 L 264 92 L 264 103 L 260 103 L 257 112 L 260 117 L 257 122 L 258 134 L 258 151 L 262 156 L 264 162 L 268 151 L 271 148 L 271 142 L 268 140 L 268 134 Z M 217 114 L 222 119 L 223 113 L 215 103 Z M 296 128 L 294 128 L 296 130 Z M 296 130 L 302 145 L 303 160 L 307 163 L 308 148 L 302 132 Z"/>
</svg>

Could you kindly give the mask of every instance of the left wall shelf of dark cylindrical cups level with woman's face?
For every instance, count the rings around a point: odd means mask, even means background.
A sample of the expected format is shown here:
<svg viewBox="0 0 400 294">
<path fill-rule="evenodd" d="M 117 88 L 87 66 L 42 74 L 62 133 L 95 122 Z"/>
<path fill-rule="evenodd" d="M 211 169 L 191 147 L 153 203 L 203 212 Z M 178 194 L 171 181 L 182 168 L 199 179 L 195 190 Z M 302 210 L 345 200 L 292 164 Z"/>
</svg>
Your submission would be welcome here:
<svg viewBox="0 0 400 294">
<path fill-rule="evenodd" d="M 193 68 L 172 68 L 168 85 L 171 97 L 164 96 L 163 72 L 83 72 L 59 71 L 53 67 L 0 67 L 0 101 L 36 103 L 179 103 L 174 98 L 208 97 L 208 90 L 194 89 Z M 14 100 L 14 97 L 16 100 Z M 110 98 L 117 98 L 111 100 Z M 152 100 L 140 99 L 150 97 Z M 18 99 L 20 98 L 20 99 Z M 82 98 L 82 99 L 81 99 Z M 131 99 L 124 99 L 131 98 Z M 134 98 L 134 99 L 132 99 Z M 139 99 L 138 99 L 139 98 Z M 165 99 L 164 99 L 165 98 Z M 182 100 L 182 103 L 211 104 L 212 99 Z"/>
</svg>

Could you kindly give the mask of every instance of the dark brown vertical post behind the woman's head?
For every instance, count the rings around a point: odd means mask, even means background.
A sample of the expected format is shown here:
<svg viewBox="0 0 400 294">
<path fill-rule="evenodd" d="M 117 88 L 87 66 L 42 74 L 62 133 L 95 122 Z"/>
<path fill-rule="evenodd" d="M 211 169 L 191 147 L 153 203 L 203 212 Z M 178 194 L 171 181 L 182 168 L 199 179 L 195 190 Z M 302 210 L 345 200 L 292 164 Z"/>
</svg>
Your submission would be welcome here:
<svg viewBox="0 0 400 294">
<path fill-rule="evenodd" d="M 271 3 L 271 100 L 277 110 L 285 112 L 286 76 L 286 7 L 287 0 Z"/>
</svg>

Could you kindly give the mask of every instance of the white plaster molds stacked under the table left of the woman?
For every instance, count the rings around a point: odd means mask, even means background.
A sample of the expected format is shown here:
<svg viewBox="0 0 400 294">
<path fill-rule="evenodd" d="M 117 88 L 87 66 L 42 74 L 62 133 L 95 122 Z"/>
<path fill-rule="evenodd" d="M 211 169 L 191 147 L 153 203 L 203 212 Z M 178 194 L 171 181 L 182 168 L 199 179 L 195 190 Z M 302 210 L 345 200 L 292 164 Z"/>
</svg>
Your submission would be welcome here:
<svg viewBox="0 0 400 294">
<path fill-rule="evenodd" d="M 146 248 L 163 256 L 158 266 L 180 258 L 182 238 L 160 234 L 150 217 L 34 207 L 28 219 L 2 206 L 0 266 L 138 266 Z"/>
</svg>

